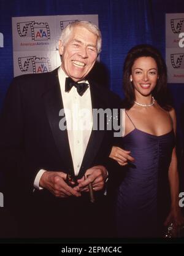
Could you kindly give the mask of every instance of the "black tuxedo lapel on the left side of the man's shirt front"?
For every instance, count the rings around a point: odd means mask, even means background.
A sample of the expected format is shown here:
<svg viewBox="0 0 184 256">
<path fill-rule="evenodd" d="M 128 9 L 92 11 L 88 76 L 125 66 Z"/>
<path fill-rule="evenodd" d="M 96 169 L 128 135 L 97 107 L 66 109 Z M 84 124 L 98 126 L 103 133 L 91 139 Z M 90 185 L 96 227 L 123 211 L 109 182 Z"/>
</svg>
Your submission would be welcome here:
<svg viewBox="0 0 184 256">
<path fill-rule="evenodd" d="M 74 174 L 71 150 L 69 148 L 69 139 L 67 130 L 59 129 L 59 111 L 63 109 L 63 100 L 58 79 L 58 69 L 50 73 L 50 78 L 47 80 L 47 90 L 44 95 L 45 110 L 47 112 L 48 122 L 52 130 L 53 138 L 58 148 L 59 155 L 66 167 L 66 171 Z"/>
</svg>

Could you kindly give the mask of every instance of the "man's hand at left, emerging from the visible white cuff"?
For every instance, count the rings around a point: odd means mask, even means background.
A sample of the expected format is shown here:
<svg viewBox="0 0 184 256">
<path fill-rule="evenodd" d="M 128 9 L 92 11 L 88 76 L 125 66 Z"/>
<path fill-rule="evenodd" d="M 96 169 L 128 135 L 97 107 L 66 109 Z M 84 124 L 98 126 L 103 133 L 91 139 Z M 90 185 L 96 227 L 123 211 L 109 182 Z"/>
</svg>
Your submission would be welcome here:
<svg viewBox="0 0 184 256">
<path fill-rule="evenodd" d="M 72 188 L 66 184 L 66 173 L 45 171 L 40 178 L 40 187 L 47 188 L 56 197 L 80 196 L 79 188 Z"/>
</svg>

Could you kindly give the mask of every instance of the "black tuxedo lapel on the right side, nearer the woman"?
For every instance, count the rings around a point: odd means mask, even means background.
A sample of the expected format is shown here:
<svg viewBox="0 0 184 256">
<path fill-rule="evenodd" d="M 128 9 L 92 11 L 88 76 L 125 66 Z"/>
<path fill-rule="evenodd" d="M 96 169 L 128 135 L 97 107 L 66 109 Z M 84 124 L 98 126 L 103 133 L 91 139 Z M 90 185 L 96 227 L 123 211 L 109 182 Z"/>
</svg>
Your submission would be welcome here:
<svg viewBox="0 0 184 256">
<path fill-rule="evenodd" d="M 91 91 L 91 104 L 92 109 L 103 109 L 101 99 L 99 97 L 98 89 L 95 88 L 94 84 L 90 82 Z M 94 120 L 93 120 L 94 122 Z M 99 147 L 101 147 L 102 139 L 104 138 L 105 131 L 103 130 L 92 130 L 91 136 L 86 147 L 85 155 L 83 157 L 82 165 L 79 171 L 79 177 L 82 177 L 86 169 L 91 168 L 93 165 L 94 158 L 98 153 Z"/>
</svg>

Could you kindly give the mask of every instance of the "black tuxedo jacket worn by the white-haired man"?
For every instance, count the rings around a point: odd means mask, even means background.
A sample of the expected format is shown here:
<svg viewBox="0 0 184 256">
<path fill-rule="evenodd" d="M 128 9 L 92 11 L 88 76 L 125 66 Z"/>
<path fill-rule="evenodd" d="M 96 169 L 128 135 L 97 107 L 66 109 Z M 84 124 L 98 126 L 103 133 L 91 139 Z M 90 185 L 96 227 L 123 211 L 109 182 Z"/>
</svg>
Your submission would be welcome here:
<svg viewBox="0 0 184 256">
<path fill-rule="evenodd" d="M 118 96 L 89 82 L 93 109 L 119 107 Z M 21 197 L 28 201 L 28 194 L 41 202 L 47 200 L 45 198 L 55 200 L 47 190 L 33 193 L 34 179 L 39 169 L 74 174 L 67 130 L 59 130 L 60 109 L 63 109 L 63 101 L 58 69 L 13 79 L 7 91 L 0 125 L 1 171 L 7 174 L 6 195 L 9 194 L 9 200 L 5 195 L 5 201 L 10 204 L 13 201 L 17 205 Z M 86 169 L 105 165 L 112 139 L 112 131 L 91 132 L 79 178 Z M 12 195 L 16 195 L 14 199 Z M 47 200 L 47 204 L 50 201 Z"/>
</svg>

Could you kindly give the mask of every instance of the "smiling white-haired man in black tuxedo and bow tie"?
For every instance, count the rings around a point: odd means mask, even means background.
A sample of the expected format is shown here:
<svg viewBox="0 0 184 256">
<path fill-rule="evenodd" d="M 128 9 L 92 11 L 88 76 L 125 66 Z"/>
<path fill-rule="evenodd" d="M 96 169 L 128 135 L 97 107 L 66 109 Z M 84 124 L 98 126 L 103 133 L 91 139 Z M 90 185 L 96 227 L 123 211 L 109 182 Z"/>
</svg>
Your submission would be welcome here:
<svg viewBox="0 0 184 256">
<path fill-rule="evenodd" d="M 95 25 L 71 23 L 59 40 L 61 67 L 15 77 L 10 85 L 1 114 L 0 149 L 9 174 L 5 200 L 17 209 L 20 236 L 107 234 L 105 163 L 113 134 L 93 129 L 93 109 L 118 106 L 119 98 L 87 79 L 100 51 L 101 33 Z"/>
</svg>

